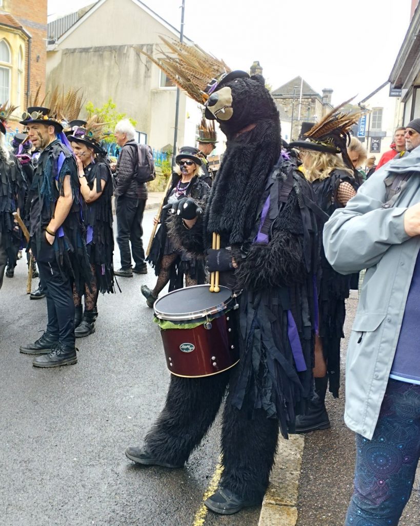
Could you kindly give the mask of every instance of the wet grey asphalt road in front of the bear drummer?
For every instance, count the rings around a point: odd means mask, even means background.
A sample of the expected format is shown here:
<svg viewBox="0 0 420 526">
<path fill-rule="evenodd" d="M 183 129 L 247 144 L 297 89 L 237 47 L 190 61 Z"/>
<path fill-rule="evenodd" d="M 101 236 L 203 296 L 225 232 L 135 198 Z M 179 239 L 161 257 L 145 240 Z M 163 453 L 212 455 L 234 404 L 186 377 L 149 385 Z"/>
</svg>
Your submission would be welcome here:
<svg viewBox="0 0 420 526">
<path fill-rule="evenodd" d="M 147 244 L 154 211 L 146 211 Z M 119 268 L 116 249 L 115 265 Z M 77 340 L 78 363 L 36 369 L 19 345 L 45 329 L 45 300 L 26 295 L 25 259 L 0 291 L 0 526 L 256 526 L 259 508 L 202 513 L 219 458 L 220 418 L 184 469 L 141 467 L 124 456 L 162 408 L 169 372 L 147 276 L 120 278 L 100 297 L 96 333 Z M 38 280 L 34 280 L 33 289 Z"/>
</svg>

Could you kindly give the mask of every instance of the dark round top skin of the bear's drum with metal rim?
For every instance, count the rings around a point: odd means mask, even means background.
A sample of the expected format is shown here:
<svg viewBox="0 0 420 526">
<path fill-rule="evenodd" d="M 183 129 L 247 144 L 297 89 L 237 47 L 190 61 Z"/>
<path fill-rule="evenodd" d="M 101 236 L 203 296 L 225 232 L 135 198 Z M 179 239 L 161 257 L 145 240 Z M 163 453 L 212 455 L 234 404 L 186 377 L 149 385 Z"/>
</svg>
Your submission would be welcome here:
<svg viewBox="0 0 420 526">
<path fill-rule="evenodd" d="M 156 317 L 161 320 L 195 320 L 226 310 L 232 300 L 232 291 L 220 287 L 210 292 L 209 285 L 196 285 L 169 292 L 154 304 Z"/>
</svg>

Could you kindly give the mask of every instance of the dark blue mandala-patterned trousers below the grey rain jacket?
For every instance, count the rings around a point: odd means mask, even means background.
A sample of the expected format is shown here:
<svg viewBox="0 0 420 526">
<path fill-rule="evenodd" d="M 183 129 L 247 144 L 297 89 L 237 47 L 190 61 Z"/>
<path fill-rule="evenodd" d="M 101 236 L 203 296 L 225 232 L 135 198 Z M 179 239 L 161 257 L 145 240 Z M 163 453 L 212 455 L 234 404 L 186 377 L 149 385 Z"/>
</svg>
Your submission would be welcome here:
<svg viewBox="0 0 420 526">
<path fill-rule="evenodd" d="M 345 526 L 397 526 L 420 457 L 420 386 L 389 380 L 372 440 L 356 434 Z"/>
</svg>

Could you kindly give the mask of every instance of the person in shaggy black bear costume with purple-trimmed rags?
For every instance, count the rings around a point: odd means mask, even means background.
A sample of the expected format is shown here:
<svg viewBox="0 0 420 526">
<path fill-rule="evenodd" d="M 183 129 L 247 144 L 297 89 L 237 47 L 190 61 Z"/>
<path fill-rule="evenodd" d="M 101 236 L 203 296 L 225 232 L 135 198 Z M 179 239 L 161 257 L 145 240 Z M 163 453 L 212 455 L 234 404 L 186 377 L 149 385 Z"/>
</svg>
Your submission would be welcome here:
<svg viewBox="0 0 420 526">
<path fill-rule="evenodd" d="M 143 446 L 125 454 L 140 464 L 184 466 L 227 390 L 223 473 L 205 504 L 230 514 L 261 503 L 279 428 L 287 438 L 312 394 L 318 217 L 310 185 L 281 154 L 279 113 L 264 78 L 233 72 L 210 90 L 206 117 L 216 118 L 227 137 L 223 162 L 206 202 L 169 205 L 170 228 L 176 245 L 194 257 L 207 255 L 220 285 L 241 291 L 240 360 L 204 378 L 171 375 L 165 406 Z M 213 232 L 220 234 L 220 250 L 209 248 Z"/>
</svg>

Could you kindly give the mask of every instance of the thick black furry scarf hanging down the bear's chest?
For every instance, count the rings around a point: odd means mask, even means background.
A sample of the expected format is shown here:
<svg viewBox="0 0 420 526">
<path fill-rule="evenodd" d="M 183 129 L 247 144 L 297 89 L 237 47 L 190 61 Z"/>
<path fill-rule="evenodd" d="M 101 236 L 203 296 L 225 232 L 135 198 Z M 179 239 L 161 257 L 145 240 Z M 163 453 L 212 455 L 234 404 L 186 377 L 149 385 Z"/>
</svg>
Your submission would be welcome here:
<svg viewBox="0 0 420 526">
<path fill-rule="evenodd" d="M 273 120 L 261 120 L 228 141 L 206 206 L 207 234 L 222 234 L 230 245 L 249 238 L 267 176 L 280 153 L 280 123 Z"/>
</svg>

